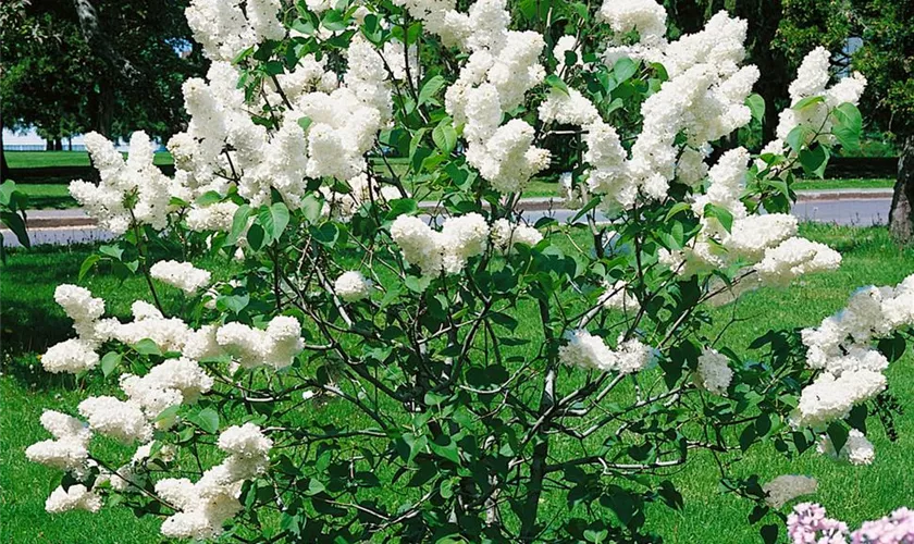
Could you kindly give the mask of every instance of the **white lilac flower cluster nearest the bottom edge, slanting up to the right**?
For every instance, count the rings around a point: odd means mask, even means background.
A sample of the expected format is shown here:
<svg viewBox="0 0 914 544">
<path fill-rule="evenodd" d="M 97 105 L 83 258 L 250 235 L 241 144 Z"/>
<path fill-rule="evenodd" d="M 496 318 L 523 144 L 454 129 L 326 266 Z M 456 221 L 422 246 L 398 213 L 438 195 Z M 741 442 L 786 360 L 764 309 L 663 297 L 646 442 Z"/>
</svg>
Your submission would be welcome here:
<svg viewBox="0 0 914 544">
<path fill-rule="evenodd" d="M 245 480 L 267 470 L 273 442 L 259 426 L 245 423 L 223 431 L 218 445 L 228 457 L 196 483 L 186 478 L 156 483 L 156 493 L 180 510 L 162 523 L 163 535 L 197 540 L 219 536 L 223 523 L 242 510 L 238 496 Z"/>
</svg>

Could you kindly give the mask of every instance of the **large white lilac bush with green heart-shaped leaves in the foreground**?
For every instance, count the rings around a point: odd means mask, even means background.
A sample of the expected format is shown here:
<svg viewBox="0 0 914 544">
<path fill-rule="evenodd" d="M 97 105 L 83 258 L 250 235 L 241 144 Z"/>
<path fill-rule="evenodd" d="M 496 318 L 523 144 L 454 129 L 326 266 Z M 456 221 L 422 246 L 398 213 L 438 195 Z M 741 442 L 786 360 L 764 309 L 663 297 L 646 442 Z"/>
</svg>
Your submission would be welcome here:
<svg viewBox="0 0 914 544">
<path fill-rule="evenodd" d="M 733 135 L 763 119 L 764 74 L 724 12 L 674 41 L 653 0 L 195 0 L 187 18 L 211 67 L 184 85 L 175 176 L 143 133 L 126 160 L 89 135 L 100 183 L 72 186 L 120 236 L 82 274 L 149 296 L 125 321 L 57 289 L 75 336 L 45 368 L 112 387 L 42 416 L 26 455 L 65 472 L 49 511 L 129 506 L 174 539 L 647 542 L 645 505 L 681 508 L 669 475 L 704 450 L 771 540 L 816 482 L 763 485 L 742 453 L 874 462 L 914 277 L 751 358 L 714 322 L 840 264 L 789 214 L 795 171 L 859 143 L 865 81 L 832 84 L 827 51 L 753 153 Z M 526 185 L 559 173 L 577 215 L 531 223 Z"/>
</svg>

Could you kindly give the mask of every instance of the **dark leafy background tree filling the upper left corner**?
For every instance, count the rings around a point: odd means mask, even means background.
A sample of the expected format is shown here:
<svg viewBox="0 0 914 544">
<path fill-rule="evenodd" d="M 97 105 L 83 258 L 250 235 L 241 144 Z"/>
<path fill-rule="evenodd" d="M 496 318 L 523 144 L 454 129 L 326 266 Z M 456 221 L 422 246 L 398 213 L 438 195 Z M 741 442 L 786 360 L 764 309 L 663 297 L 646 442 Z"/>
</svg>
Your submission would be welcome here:
<svg viewBox="0 0 914 544">
<path fill-rule="evenodd" d="M 181 84 L 202 73 L 184 0 L 50 0 L 0 7 L 0 126 L 51 141 L 88 131 L 183 128 Z M 0 153 L 2 154 L 2 153 Z M 0 174 L 7 175 L 0 158 Z"/>
</svg>

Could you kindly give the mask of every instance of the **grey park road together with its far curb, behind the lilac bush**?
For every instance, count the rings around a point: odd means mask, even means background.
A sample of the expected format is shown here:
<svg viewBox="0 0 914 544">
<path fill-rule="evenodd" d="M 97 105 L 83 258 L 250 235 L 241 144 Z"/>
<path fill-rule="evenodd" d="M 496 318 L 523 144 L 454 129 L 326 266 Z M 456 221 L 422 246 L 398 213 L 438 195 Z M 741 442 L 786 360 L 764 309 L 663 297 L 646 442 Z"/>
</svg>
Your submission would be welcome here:
<svg viewBox="0 0 914 544">
<path fill-rule="evenodd" d="M 830 189 L 798 191 L 792 213 L 804 221 L 840 225 L 870 226 L 886 224 L 891 206 L 891 189 Z M 430 209 L 433 202 L 420 207 Z M 559 222 L 572 219 L 577 211 L 563 208 L 558 198 L 524 198 L 520 201 L 523 217 L 530 222 L 552 217 Z M 111 233 L 99 228 L 79 208 L 69 210 L 32 210 L 27 212 L 33 245 L 70 245 L 111 239 Z M 10 231 L 0 230 L 4 245 L 18 246 Z"/>
</svg>

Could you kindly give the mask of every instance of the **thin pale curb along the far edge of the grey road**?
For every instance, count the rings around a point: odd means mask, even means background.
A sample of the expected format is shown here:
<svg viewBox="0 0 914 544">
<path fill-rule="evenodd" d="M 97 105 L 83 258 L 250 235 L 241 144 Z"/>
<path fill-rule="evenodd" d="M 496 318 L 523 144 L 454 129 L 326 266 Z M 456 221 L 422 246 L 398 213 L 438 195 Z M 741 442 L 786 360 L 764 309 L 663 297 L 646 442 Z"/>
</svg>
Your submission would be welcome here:
<svg viewBox="0 0 914 544">
<path fill-rule="evenodd" d="M 796 202 L 822 202 L 822 201 L 840 201 L 840 200 L 879 200 L 892 198 L 891 189 L 870 189 L 870 190 L 807 190 L 799 191 L 796 194 Z M 560 198 L 544 197 L 544 198 L 524 198 L 518 202 L 518 208 L 521 211 L 547 211 L 547 210 L 564 210 Z M 429 211 L 437 207 L 436 202 L 419 202 L 419 209 Z M 35 211 L 33 211 L 35 213 Z M 39 214 L 40 215 L 40 214 Z M 83 228 L 95 227 L 96 220 L 89 218 L 77 210 L 71 215 L 62 214 L 59 217 L 32 217 L 27 222 L 28 228 Z"/>
</svg>

